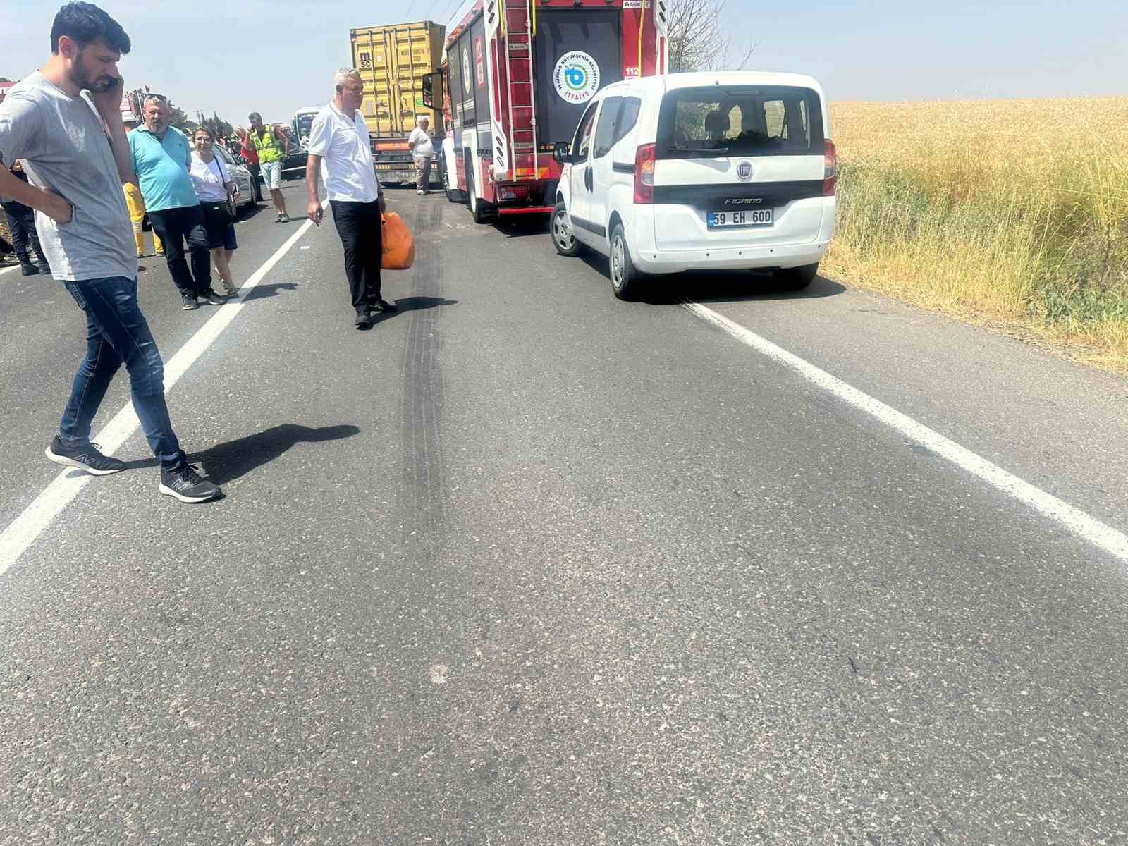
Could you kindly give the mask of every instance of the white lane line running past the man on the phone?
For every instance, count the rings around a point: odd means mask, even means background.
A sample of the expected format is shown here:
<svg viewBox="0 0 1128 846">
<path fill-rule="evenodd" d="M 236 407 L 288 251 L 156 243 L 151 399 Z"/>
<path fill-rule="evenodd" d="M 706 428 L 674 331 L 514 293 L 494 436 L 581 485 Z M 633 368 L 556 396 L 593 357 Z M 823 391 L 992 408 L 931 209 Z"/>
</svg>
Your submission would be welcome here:
<svg viewBox="0 0 1128 846">
<path fill-rule="evenodd" d="M 328 201 L 325 202 L 328 205 Z M 267 273 L 277 264 L 282 257 L 290 252 L 290 248 L 298 243 L 298 239 L 312 226 L 307 220 L 297 232 L 291 235 L 285 244 L 277 248 L 263 265 L 255 271 L 240 290 L 250 291 Z M 184 376 L 196 360 L 206 352 L 208 347 L 220 336 L 231 320 L 236 318 L 243 307 L 244 300 L 230 302 L 219 308 L 208 323 L 201 326 L 196 334 L 188 338 L 176 354 L 165 362 L 165 393 L 167 394 L 176 385 L 176 381 Z M 91 438 L 92 441 L 102 444 L 106 453 L 113 453 L 132 435 L 140 425 L 136 412 L 133 406 L 126 405 Z M 74 475 L 71 475 L 74 474 Z M 43 493 L 35 497 L 24 512 L 9 523 L 8 528 L 0 532 L 0 575 L 3 575 L 12 564 L 19 561 L 27 548 L 35 543 L 35 539 L 43 534 L 51 522 L 59 517 L 64 508 L 73 500 L 78 492 L 86 486 L 90 479 L 95 478 L 80 470 L 65 469 L 55 476 L 54 481 L 44 488 Z"/>
</svg>

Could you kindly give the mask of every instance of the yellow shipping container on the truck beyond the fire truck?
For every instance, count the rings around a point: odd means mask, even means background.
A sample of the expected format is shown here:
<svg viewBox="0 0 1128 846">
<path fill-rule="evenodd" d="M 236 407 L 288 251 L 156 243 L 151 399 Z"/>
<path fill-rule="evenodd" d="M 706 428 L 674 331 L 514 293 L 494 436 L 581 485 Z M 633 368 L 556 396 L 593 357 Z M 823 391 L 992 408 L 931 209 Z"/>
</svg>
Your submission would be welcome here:
<svg viewBox="0 0 1128 846">
<path fill-rule="evenodd" d="M 350 30 L 353 67 L 364 80 L 361 112 L 373 138 L 406 138 L 420 115 L 433 130 L 442 126 L 440 114 L 423 105 L 423 77 L 442 61 L 446 32 L 431 20 Z"/>
</svg>

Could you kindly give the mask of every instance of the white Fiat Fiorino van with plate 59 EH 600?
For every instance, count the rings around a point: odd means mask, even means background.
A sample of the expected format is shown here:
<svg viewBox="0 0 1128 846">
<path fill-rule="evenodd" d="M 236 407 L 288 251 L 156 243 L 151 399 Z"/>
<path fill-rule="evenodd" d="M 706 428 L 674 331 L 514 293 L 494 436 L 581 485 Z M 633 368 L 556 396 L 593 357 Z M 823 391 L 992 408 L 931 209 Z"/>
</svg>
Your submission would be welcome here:
<svg viewBox="0 0 1128 846">
<path fill-rule="evenodd" d="M 646 274 L 704 270 L 772 271 L 799 290 L 834 236 L 837 156 L 826 95 L 808 76 L 616 82 L 553 155 L 553 245 L 607 256 L 620 299 Z"/>
</svg>

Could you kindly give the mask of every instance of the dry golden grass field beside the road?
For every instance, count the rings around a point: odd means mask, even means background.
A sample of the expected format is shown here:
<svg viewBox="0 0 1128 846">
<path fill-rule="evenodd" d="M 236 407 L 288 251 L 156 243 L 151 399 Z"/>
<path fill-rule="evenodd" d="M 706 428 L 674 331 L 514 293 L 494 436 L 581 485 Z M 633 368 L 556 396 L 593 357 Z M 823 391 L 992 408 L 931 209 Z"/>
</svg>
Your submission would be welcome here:
<svg viewBox="0 0 1128 846">
<path fill-rule="evenodd" d="M 1128 372 L 1128 97 L 841 103 L 826 271 Z"/>
</svg>

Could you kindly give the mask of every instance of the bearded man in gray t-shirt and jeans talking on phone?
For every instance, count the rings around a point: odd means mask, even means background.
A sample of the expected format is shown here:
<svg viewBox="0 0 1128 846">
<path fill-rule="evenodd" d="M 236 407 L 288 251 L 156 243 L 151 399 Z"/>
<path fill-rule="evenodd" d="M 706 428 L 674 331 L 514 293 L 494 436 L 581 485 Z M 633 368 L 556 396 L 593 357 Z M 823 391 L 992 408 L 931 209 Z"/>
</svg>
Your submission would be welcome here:
<svg viewBox="0 0 1128 846">
<path fill-rule="evenodd" d="M 121 25 L 92 3 L 67 3 L 51 27 L 51 56 L 0 105 L 0 158 L 24 159 L 28 183 L 0 167 L 0 194 L 36 210 L 54 277 L 86 312 L 87 351 L 46 456 L 96 476 L 125 464 L 90 443 L 90 425 L 124 363 L 133 408 L 160 461 L 159 491 L 180 502 L 220 494 L 188 464 L 165 403 L 165 370 L 138 306 L 136 248 L 122 183 L 133 165 L 118 109 Z"/>
</svg>

